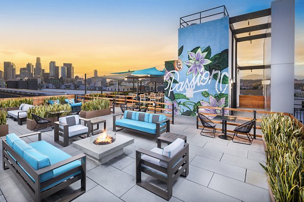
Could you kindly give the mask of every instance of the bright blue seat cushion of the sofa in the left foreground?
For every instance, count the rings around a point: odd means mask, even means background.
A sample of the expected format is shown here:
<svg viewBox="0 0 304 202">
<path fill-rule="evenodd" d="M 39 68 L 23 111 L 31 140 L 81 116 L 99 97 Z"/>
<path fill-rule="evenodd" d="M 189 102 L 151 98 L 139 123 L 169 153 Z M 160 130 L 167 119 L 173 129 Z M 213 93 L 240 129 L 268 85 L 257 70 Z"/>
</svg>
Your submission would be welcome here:
<svg viewBox="0 0 304 202">
<path fill-rule="evenodd" d="M 66 160 L 71 156 L 66 154 L 64 151 L 60 150 L 59 148 L 53 146 L 52 144 L 46 141 L 37 141 L 29 143 L 33 148 L 40 151 L 42 154 L 46 155 L 50 159 L 50 164 L 54 165 L 58 162 Z M 74 161 L 59 168 L 53 170 L 54 177 L 81 165 L 80 161 Z M 75 173 L 77 175 L 79 173 Z"/>
</svg>

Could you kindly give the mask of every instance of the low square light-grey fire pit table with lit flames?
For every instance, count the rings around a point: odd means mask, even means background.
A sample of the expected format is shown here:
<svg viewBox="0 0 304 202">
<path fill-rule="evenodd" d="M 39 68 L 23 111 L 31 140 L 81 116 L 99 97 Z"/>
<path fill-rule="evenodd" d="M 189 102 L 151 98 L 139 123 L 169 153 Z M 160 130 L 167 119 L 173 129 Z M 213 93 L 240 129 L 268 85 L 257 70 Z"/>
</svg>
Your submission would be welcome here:
<svg viewBox="0 0 304 202">
<path fill-rule="evenodd" d="M 116 136 L 114 131 L 93 131 L 90 137 L 74 141 L 72 146 L 83 151 L 93 161 L 105 164 L 124 153 L 124 147 L 134 139 L 124 135 Z"/>
</svg>

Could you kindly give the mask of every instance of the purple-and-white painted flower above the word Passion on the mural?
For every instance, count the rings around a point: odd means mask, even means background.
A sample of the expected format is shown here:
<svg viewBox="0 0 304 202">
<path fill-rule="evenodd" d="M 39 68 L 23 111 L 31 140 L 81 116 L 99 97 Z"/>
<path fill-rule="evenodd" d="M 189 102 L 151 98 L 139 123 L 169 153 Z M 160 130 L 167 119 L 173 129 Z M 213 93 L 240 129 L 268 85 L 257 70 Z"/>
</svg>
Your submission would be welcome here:
<svg viewBox="0 0 304 202">
<path fill-rule="evenodd" d="M 203 76 L 205 72 L 204 65 L 211 63 L 209 59 L 205 58 L 207 54 L 208 52 L 202 53 L 201 48 L 198 48 L 196 53 L 188 52 L 189 60 L 184 62 L 184 64 L 189 67 L 186 74 L 189 75 L 193 73 L 193 76 L 197 76 L 198 74 Z"/>
</svg>

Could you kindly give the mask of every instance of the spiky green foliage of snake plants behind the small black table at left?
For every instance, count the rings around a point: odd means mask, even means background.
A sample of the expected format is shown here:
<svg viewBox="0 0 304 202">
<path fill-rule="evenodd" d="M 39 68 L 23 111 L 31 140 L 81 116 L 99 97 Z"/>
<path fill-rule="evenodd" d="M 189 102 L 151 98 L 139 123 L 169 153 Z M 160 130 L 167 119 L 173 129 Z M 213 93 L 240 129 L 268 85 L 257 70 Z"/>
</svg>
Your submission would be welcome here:
<svg viewBox="0 0 304 202">
<path fill-rule="evenodd" d="M 27 118 L 33 119 L 31 114 L 35 114 L 42 118 L 55 117 L 57 115 L 49 113 L 49 112 L 55 112 L 55 111 L 71 111 L 71 106 L 68 104 L 35 106 L 35 107 L 27 110 Z M 69 112 L 62 113 L 61 115 L 67 115 L 67 114 L 69 114 Z"/>
</svg>

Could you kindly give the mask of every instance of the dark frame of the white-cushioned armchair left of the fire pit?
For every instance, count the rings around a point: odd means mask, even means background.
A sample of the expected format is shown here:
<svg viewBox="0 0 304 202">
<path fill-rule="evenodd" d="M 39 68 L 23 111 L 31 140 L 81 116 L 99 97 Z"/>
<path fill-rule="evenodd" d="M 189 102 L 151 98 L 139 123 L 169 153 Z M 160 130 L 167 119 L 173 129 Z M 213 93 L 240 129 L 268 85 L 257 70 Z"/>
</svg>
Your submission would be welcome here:
<svg viewBox="0 0 304 202">
<path fill-rule="evenodd" d="M 62 144 L 62 146 L 65 147 L 68 146 L 68 140 L 70 138 L 74 138 L 82 135 L 89 137 L 91 133 L 91 120 L 79 117 L 79 124 L 81 124 L 81 121 L 84 121 L 84 125 L 88 127 L 88 132 L 79 135 L 74 135 L 72 137 L 68 136 L 68 124 L 59 121 L 54 122 L 54 141 L 58 144 Z M 59 126 L 63 126 L 63 128 L 60 128 Z M 59 140 L 59 136 L 63 137 L 63 141 Z"/>
</svg>

